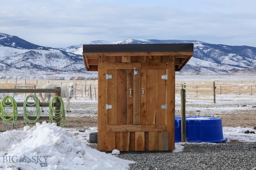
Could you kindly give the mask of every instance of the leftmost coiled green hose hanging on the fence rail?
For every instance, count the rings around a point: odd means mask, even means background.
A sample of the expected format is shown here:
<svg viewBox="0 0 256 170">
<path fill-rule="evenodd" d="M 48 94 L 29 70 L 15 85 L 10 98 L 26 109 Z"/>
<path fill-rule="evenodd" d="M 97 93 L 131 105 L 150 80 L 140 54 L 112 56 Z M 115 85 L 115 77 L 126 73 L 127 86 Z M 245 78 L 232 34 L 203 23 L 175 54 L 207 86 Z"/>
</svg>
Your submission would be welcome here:
<svg viewBox="0 0 256 170">
<path fill-rule="evenodd" d="M 12 107 L 12 109 L 8 109 L 9 107 Z M 13 127 L 16 125 L 18 119 L 18 106 L 12 96 L 5 96 L 2 99 L 0 103 L 0 117 L 6 125 L 13 125 Z"/>
</svg>

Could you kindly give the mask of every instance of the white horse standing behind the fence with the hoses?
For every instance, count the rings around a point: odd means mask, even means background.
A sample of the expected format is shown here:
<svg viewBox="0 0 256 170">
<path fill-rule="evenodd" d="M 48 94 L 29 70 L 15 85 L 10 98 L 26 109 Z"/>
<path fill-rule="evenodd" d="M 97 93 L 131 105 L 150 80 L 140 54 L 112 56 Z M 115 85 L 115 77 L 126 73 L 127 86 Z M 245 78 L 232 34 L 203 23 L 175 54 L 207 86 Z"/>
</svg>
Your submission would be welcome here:
<svg viewBox="0 0 256 170">
<path fill-rule="evenodd" d="M 41 88 L 56 88 L 56 87 L 60 87 L 60 97 L 61 98 L 66 98 L 67 102 L 66 102 L 66 111 L 67 112 L 71 112 L 70 111 L 70 99 L 74 96 L 74 94 L 76 93 L 76 86 L 73 83 L 65 83 L 62 85 L 57 85 L 57 84 L 44 84 L 43 86 L 41 86 Z M 50 102 L 50 98 L 51 96 L 55 96 L 54 93 L 39 93 L 40 98 L 42 99 L 42 101 L 46 101 Z M 43 107 L 41 107 L 41 111 L 44 112 Z"/>
</svg>

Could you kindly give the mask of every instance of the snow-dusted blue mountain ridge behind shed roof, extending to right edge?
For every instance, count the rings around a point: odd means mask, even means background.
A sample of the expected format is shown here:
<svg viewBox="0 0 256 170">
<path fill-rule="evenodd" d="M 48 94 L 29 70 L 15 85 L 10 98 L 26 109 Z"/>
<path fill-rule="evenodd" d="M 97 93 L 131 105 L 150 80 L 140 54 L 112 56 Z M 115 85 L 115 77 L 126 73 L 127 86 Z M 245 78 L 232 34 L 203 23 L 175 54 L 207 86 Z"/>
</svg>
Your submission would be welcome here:
<svg viewBox="0 0 256 170">
<path fill-rule="evenodd" d="M 256 48 L 209 44 L 196 40 L 126 39 L 123 41 L 91 41 L 86 44 L 145 44 L 145 43 L 194 43 L 194 55 L 176 74 L 218 75 L 233 74 L 239 70 L 256 68 Z M 63 50 L 82 54 L 83 45 Z M 256 72 L 254 72 L 256 74 Z"/>
</svg>

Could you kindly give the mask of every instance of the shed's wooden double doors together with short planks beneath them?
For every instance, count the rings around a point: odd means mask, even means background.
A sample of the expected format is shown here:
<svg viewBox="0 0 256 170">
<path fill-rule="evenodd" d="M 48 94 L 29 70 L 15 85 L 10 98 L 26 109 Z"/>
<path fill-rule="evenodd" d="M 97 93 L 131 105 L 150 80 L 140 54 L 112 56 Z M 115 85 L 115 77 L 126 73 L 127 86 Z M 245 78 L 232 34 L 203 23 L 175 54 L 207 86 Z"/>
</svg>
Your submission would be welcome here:
<svg viewBox="0 0 256 170">
<path fill-rule="evenodd" d="M 108 69 L 106 79 L 106 150 L 169 150 L 166 70 Z"/>
</svg>

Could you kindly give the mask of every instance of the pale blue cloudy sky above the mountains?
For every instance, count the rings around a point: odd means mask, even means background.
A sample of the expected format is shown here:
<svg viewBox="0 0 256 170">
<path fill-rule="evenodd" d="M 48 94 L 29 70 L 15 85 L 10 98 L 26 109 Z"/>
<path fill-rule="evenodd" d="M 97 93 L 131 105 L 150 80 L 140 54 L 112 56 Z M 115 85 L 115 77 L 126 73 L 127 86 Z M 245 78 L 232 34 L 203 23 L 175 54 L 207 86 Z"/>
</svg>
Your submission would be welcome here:
<svg viewBox="0 0 256 170">
<path fill-rule="evenodd" d="M 0 0 L 0 33 L 46 47 L 125 39 L 256 47 L 255 0 Z"/>
</svg>

